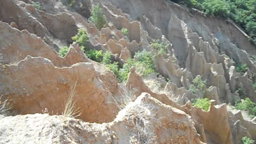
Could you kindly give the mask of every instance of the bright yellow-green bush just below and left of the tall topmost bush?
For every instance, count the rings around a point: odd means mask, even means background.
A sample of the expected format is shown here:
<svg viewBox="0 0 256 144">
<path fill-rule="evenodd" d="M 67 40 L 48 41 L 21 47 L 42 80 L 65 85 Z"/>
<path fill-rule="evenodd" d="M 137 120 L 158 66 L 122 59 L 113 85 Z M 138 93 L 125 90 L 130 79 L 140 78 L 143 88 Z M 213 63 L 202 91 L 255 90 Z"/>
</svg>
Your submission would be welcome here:
<svg viewBox="0 0 256 144">
<path fill-rule="evenodd" d="M 85 52 L 85 44 L 89 41 L 89 37 L 87 36 L 85 29 L 78 29 L 78 33 L 72 37 L 72 40 L 77 42 L 81 46 L 83 52 Z"/>
</svg>

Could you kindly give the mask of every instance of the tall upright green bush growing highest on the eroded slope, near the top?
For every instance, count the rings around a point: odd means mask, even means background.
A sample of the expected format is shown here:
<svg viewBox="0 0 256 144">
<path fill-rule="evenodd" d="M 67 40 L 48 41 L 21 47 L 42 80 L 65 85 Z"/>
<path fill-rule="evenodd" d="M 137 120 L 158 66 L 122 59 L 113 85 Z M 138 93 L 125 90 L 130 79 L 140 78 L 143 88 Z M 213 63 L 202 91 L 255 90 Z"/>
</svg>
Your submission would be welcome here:
<svg viewBox="0 0 256 144">
<path fill-rule="evenodd" d="M 95 24 L 95 26 L 100 30 L 107 24 L 106 17 L 102 13 L 100 4 L 94 5 L 91 11 L 90 20 Z"/>
</svg>

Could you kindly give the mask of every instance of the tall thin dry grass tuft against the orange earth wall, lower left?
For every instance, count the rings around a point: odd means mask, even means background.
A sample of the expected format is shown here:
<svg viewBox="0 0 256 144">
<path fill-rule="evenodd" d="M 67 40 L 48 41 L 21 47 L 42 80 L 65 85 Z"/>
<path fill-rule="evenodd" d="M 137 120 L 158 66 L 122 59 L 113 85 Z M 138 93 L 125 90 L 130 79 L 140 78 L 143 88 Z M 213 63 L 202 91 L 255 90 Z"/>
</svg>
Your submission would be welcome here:
<svg viewBox="0 0 256 144">
<path fill-rule="evenodd" d="M 79 110 L 79 108 L 76 108 L 76 100 L 74 100 L 76 85 L 77 81 L 75 85 L 72 87 L 68 100 L 65 103 L 65 110 L 62 113 L 62 115 L 64 116 L 76 118 L 81 115 L 81 111 Z"/>
</svg>

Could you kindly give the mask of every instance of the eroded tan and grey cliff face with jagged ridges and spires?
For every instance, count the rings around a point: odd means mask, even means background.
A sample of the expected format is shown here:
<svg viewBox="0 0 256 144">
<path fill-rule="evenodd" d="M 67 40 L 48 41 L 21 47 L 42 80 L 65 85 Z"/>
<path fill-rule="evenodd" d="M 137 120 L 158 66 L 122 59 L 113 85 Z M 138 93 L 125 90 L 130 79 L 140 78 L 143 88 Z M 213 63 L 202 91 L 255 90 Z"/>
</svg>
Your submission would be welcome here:
<svg viewBox="0 0 256 144">
<path fill-rule="evenodd" d="M 164 0 L 71 2 L 2 0 L 0 143 L 256 140 L 256 118 L 232 106 L 242 98 L 238 89 L 256 102 L 256 46 L 233 22 Z M 102 29 L 89 20 L 98 3 L 107 20 Z M 78 28 L 89 37 L 86 48 L 109 51 L 119 69 L 139 51 L 153 53 L 158 74 L 131 67 L 120 83 L 73 43 Z M 154 39 L 168 45 L 165 53 L 153 49 Z M 58 51 L 65 45 L 62 58 Z M 246 71 L 239 71 L 243 64 Z M 190 89 L 198 75 L 206 80 L 203 93 Z M 64 113 L 70 95 L 81 113 L 77 119 Z M 209 111 L 192 106 L 198 98 L 211 100 Z M 6 100 L 13 116 L 1 111 Z"/>
</svg>

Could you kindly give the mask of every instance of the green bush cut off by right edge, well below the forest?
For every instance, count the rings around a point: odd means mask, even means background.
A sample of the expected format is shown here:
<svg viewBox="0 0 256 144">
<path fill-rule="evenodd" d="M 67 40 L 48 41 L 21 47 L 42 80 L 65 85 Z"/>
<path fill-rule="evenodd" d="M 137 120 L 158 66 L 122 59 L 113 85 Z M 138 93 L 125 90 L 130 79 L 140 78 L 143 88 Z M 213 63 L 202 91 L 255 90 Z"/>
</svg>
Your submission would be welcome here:
<svg viewBox="0 0 256 144">
<path fill-rule="evenodd" d="M 238 98 L 235 99 L 236 109 L 248 111 L 251 117 L 256 115 L 256 103 L 252 102 L 249 98 L 245 98 L 244 101 L 239 101 Z"/>
</svg>

